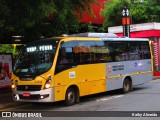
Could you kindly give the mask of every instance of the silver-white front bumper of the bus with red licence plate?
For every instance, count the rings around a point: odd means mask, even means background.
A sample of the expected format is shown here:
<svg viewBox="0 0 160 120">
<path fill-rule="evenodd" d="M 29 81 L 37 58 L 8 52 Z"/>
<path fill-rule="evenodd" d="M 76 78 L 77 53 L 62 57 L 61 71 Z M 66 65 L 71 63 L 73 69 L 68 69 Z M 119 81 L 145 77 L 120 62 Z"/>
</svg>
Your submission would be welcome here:
<svg viewBox="0 0 160 120">
<path fill-rule="evenodd" d="M 17 91 L 12 89 L 14 101 L 23 102 L 54 102 L 54 89 L 44 89 L 40 91 Z"/>
</svg>

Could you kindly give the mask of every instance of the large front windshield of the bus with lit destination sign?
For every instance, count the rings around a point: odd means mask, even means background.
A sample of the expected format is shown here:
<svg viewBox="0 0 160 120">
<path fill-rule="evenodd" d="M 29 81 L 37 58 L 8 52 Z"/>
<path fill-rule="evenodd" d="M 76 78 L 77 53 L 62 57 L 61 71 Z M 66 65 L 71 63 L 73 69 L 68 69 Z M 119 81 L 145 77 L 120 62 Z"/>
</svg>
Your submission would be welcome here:
<svg viewBox="0 0 160 120">
<path fill-rule="evenodd" d="M 13 72 L 19 77 L 35 77 L 47 72 L 53 63 L 58 41 L 28 44 L 17 59 Z"/>
</svg>

